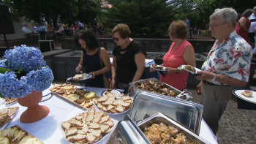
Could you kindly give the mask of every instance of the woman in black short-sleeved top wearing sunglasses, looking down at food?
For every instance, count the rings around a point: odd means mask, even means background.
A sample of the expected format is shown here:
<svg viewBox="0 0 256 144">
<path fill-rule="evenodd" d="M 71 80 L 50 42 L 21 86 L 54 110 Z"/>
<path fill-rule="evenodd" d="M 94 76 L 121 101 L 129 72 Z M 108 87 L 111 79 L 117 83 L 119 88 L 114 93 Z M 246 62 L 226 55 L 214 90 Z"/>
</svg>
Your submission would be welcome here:
<svg viewBox="0 0 256 144">
<path fill-rule="evenodd" d="M 131 31 L 126 24 L 118 24 L 112 31 L 116 47 L 113 49 L 111 88 L 132 91 L 129 83 L 146 78 L 146 50 L 130 38 Z"/>
</svg>

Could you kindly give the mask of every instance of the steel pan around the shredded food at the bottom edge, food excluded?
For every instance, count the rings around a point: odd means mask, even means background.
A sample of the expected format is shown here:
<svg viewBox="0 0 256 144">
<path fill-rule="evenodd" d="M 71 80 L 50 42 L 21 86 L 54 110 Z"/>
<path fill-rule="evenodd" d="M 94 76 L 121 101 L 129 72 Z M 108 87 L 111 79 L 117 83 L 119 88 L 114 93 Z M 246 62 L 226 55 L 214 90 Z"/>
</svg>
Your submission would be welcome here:
<svg viewBox="0 0 256 144">
<path fill-rule="evenodd" d="M 167 126 L 173 126 L 176 129 L 178 129 L 179 132 L 183 133 L 187 137 L 187 140 L 189 140 L 189 143 L 209 144 L 206 140 L 203 140 L 203 138 L 198 137 L 196 134 L 194 134 L 193 132 L 190 132 L 180 124 L 171 120 L 170 118 L 167 118 L 167 116 L 163 115 L 162 113 L 156 113 L 151 117 L 146 118 L 143 121 L 140 121 L 137 125 L 140 128 L 140 130 L 143 131 L 146 127 L 151 126 L 152 124 L 160 124 L 160 123 L 163 123 Z"/>
</svg>

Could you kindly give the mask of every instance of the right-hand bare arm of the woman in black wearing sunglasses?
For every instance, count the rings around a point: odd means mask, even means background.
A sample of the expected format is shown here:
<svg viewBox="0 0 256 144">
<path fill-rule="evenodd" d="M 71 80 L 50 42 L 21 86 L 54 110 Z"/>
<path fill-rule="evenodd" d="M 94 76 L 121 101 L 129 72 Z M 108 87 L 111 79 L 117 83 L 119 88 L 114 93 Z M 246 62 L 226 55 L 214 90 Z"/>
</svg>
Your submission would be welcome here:
<svg viewBox="0 0 256 144">
<path fill-rule="evenodd" d="M 145 69 L 145 55 L 143 53 L 135 54 L 135 63 L 137 65 L 137 71 L 132 79 L 132 82 L 140 80 L 141 75 Z"/>
</svg>

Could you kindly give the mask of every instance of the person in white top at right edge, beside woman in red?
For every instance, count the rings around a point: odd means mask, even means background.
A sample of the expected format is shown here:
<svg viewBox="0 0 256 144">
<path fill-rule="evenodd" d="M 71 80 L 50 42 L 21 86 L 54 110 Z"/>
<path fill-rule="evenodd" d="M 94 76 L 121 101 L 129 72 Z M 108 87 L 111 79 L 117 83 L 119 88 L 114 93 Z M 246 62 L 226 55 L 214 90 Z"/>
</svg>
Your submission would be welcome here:
<svg viewBox="0 0 256 144">
<path fill-rule="evenodd" d="M 249 28 L 248 36 L 249 36 L 249 44 L 253 47 L 255 45 L 255 27 L 256 27 L 256 6 L 253 8 L 253 13 L 249 16 L 249 20 L 251 20 L 251 26 Z"/>
</svg>

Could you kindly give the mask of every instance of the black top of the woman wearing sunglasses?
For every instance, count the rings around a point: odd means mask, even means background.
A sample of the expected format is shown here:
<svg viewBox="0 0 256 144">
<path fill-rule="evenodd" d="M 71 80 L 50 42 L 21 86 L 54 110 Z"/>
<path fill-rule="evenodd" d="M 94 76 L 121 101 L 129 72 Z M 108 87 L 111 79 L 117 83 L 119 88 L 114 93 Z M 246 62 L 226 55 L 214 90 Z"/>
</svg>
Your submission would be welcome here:
<svg viewBox="0 0 256 144">
<path fill-rule="evenodd" d="M 116 46 L 113 49 L 113 55 L 116 56 L 116 77 L 118 82 L 128 84 L 132 82 L 133 77 L 137 71 L 137 65 L 135 63 L 135 54 L 143 53 L 146 57 L 146 50 L 140 45 L 140 43 L 132 40 L 126 48 L 126 52 L 120 53 L 121 47 Z M 146 79 L 146 73 L 143 72 L 140 79 Z"/>
</svg>

